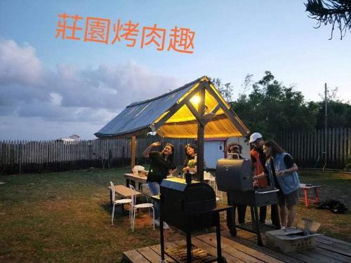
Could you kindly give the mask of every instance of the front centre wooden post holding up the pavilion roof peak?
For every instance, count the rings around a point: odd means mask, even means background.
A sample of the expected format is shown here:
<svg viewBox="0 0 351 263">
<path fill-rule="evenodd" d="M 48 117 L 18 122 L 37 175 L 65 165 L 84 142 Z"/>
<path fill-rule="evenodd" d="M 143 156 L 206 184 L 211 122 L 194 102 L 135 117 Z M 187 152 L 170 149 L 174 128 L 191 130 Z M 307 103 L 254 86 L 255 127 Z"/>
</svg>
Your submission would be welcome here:
<svg viewBox="0 0 351 263">
<path fill-rule="evenodd" d="M 199 115 L 202 116 L 205 113 L 205 89 L 202 88 L 199 91 Z M 205 135 L 205 124 L 206 122 L 198 122 L 197 124 L 197 177 L 200 182 L 204 182 L 204 135 Z"/>
</svg>

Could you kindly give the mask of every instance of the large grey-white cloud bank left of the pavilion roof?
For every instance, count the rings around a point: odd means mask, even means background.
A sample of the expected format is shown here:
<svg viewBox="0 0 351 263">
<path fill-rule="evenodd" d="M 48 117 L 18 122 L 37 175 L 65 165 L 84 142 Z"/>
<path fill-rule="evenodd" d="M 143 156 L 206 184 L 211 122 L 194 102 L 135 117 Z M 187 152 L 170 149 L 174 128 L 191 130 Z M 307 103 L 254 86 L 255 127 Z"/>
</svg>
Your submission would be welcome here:
<svg viewBox="0 0 351 263">
<path fill-rule="evenodd" d="M 59 64 L 51 71 L 42 66 L 34 47 L 0 39 L 0 116 L 93 123 L 101 128 L 131 102 L 183 84 L 133 61 L 95 69 Z"/>
</svg>

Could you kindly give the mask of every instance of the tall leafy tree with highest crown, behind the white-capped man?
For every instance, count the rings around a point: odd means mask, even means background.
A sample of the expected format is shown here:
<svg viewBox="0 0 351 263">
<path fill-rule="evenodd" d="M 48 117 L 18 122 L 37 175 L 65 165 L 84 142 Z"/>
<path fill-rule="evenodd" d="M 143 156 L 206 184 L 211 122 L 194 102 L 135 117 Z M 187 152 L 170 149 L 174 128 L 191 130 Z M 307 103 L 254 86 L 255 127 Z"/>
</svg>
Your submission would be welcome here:
<svg viewBox="0 0 351 263">
<path fill-rule="evenodd" d="M 266 71 L 260 81 L 253 83 L 253 91 L 241 94 L 232 102 L 234 111 L 248 128 L 274 138 L 284 130 L 312 130 L 317 104 L 307 103 L 300 91 L 286 87 Z"/>
</svg>

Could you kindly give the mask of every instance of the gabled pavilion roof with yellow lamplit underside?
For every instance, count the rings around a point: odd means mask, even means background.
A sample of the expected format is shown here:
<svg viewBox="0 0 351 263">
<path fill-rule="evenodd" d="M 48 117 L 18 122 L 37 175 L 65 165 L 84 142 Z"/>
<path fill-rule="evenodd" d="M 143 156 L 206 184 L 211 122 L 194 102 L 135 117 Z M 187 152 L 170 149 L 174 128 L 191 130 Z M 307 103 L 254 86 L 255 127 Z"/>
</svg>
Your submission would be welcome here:
<svg viewBox="0 0 351 263">
<path fill-rule="evenodd" d="M 164 137 L 197 137 L 197 119 L 192 98 L 204 88 L 205 105 L 214 117 L 206 123 L 204 137 L 244 136 L 249 133 L 229 104 L 206 76 L 196 79 L 169 93 L 142 102 L 134 102 L 112 121 L 107 123 L 95 136 L 115 138 L 135 136 L 157 131 Z M 192 108 L 192 109 L 191 109 Z M 211 110 L 211 111 L 210 111 Z"/>
</svg>

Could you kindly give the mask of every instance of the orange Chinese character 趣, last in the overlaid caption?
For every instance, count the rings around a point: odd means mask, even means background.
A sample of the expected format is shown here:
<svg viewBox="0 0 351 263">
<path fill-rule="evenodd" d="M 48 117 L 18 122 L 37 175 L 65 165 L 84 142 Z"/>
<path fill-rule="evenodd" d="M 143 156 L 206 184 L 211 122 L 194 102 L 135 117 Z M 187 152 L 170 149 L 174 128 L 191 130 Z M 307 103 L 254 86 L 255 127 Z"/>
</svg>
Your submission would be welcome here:
<svg viewBox="0 0 351 263">
<path fill-rule="evenodd" d="M 171 39 L 169 41 L 169 45 L 167 50 L 170 49 L 176 50 L 180 53 L 194 53 L 194 36 L 195 32 L 190 31 L 188 28 L 180 28 L 174 27 L 171 29 L 173 34 L 169 34 Z M 191 50 L 189 50 L 191 48 Z"/>
</svg>

